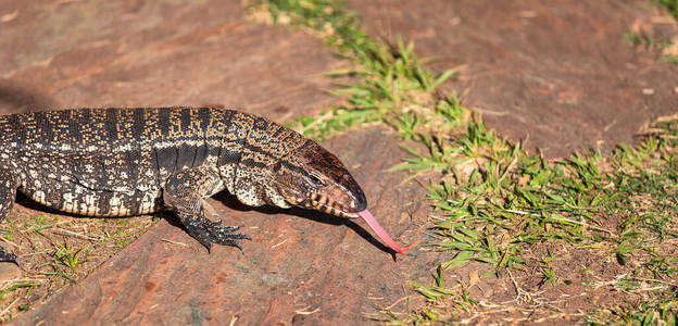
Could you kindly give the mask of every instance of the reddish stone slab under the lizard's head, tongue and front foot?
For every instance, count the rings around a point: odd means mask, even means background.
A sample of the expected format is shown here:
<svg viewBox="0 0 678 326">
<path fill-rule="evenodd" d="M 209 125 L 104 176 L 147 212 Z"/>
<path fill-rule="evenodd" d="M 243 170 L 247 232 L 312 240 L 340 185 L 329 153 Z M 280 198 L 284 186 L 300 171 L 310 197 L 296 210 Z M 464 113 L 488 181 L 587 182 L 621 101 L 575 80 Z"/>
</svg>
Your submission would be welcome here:
<svg viewBox="0 0 678 326">
<path fill-rule="evenodd" d="M 371 128 L 326 146 L 355 172 L 382 226 L 409 243 L 425 234 L 428 204 L 419 200 L 422 187 L 400 185 L 405 175 L 385 171 L 403 155 L 394 140 Z M 246 208 L 226 193 L 211 203 L 226 224 L 244 225 L 253 240 L 242 252 L 217 247 L 209 254 L 167 218 L 17 324 L 364 324 L 393 303 L 391 309 L 407 311 L 407 300 L 398 302 L 412 294 L 405 281 L 429 283 L 438 262 L 439 254 L 426 247 L 394 261 L 363 223 L 305 210 Z"/>
</svg>

